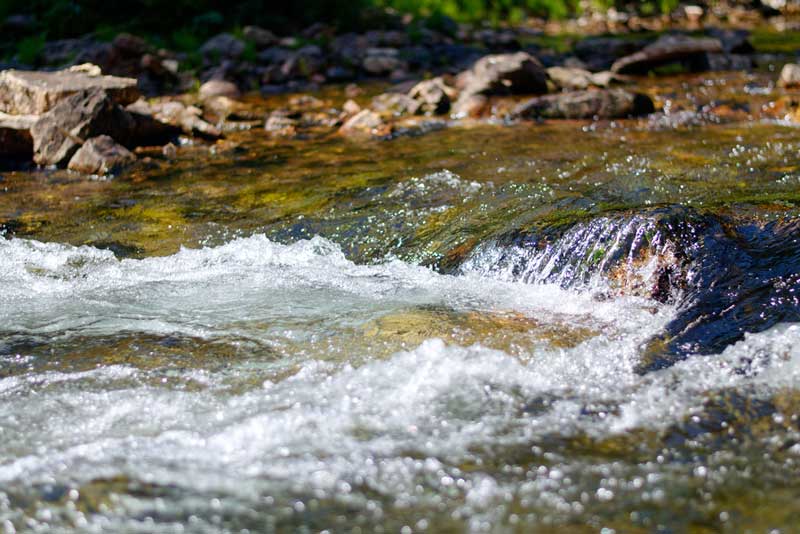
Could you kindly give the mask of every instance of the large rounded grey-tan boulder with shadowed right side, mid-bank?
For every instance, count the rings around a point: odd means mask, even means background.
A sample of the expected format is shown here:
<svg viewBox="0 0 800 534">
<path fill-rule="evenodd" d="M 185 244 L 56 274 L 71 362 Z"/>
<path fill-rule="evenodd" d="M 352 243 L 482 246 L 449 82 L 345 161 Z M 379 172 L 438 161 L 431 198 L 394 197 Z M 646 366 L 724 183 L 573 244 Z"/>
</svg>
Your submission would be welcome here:
<svg viewBox="0 0 800 534">
<path fill-rule="evenodd" d="M 519 95 L 547 92 L 547 72 L 539 60 L 527 52 L 485 56 L 461 76 L 464 92 L 468 94 Z"/>
</svg>

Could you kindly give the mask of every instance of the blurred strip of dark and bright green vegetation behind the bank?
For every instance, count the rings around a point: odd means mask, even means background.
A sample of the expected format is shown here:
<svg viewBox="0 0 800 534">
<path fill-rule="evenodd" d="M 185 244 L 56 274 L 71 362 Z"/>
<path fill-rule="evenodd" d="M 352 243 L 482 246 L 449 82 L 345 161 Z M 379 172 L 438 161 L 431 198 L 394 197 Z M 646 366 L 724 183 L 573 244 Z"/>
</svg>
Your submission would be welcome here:
<svg viewBox="0 0 800 534">
<path fill-rule="evenodd" d="M 591 0 L 590 5 L 606 9 L 634 8 L 640 12 L 669 11 L 677 0 L 631 2 Z M 313 22 L 323 21 L 342 30 L 374 29 L 396 24 L 390 12 L 410 13 L 432 26 L 457 22 L 518 23 L 527 16 L 564 18 L 579 14 L 585 3 L 579 0 L 0 0 L 0 21 L 12 14 L 35 16 L 29 36 L 47 32 L 50 39 L 95 33 L 112 37 L 120 31 L 157 36 L 163 44 L 192 49 L 206 37 L 222 30 L 248 24 L 270 28 L 279 34 L 295 32 Z M 19 42 L 19 35 L 3 32 L 2 39 Z M 35 43 L 25 44 L 30 50 Z M 21 47 L 22 45 L 20 45 Z"/>
</svg>

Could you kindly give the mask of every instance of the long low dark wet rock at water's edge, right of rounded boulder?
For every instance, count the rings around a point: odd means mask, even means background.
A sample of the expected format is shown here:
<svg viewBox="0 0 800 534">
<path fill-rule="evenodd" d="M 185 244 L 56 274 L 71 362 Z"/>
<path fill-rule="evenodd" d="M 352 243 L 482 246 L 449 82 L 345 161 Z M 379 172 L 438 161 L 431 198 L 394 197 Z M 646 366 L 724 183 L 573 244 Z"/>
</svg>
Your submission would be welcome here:
<svg viewBox="0 0 800 534">
<path fill-rule="evenodd" d="M 517 106 L 513 115 L 528 119 L 616 119 L 646 115 L 653 109 L 647 95 L 607 89 L 536 97 Z"/>
</svg>

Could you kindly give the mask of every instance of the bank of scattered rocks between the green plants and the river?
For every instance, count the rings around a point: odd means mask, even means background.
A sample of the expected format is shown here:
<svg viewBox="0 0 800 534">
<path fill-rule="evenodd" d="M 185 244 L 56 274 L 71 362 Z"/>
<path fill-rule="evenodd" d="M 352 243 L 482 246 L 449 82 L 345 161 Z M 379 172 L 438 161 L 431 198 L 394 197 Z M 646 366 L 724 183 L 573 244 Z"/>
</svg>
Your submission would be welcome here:
<svg viewBox="0 0 800 534">
<path fill-rule="evenodd" d="M 687 7 L 672 17 L 628 17 L 622 25 L 613 17 L 584 21 L 593 31 L 620 33 L 583 39 L 550 37 L 546 27 L 454 23 L 437 31 L 396 21 L 392 29 L 338 35 L 315 25 L 291 37 L 248 26 L 211 38 L 194 59 L 129 34 L 110 43 L 48 42 L 43 68 L 0 73 L 0 161 L 108 175 L 137 157 L 170 159 L 185 145 L 230 148 L 235 142 L 222 141 L 226 133 L 242 129 L 290 139 L 391 139 L 476 120 L 670 115 L 676 110 L 669 95 L 652 85 L 642 89 L 642 77 L 704 71 L 783 68 L 775 81 L 787 96 L 767 107 L 721 103 L 693 110 L 698 114 L 793 119 L 800 67 L 790 54 L 759 50 L 751 31 L 730 27 L 753 26 L 753 17 L 725 13 L 721 20 L 713 10 Z M 669 31 L 632 31 L 642 29 Z"/>
</svg>

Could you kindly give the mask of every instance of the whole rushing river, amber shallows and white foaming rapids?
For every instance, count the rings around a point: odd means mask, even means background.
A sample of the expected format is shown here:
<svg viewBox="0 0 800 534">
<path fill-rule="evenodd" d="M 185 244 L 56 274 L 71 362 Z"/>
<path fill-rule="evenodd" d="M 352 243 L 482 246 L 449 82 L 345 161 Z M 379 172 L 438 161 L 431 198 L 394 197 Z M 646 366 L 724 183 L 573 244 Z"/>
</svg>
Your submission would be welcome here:
<svg viewBox="0 0 800 534">
<path fill-rule="evenodd" d="M 0 529 L 792 531 L 800 128 L 769 80 L 4 173 Z"/>
</svg>

